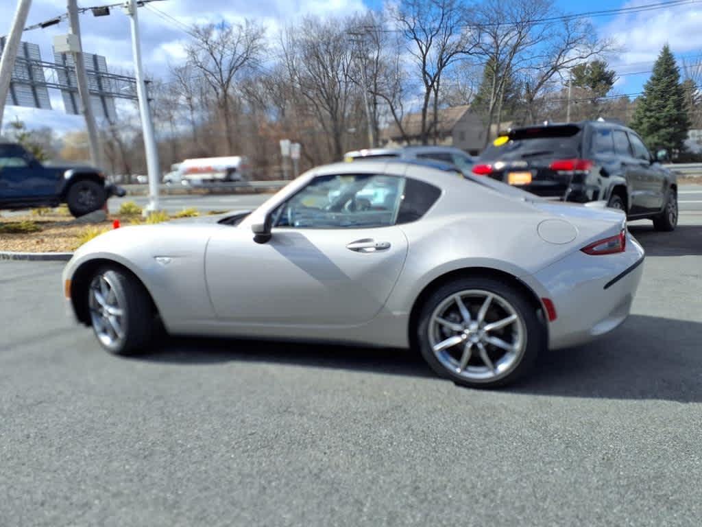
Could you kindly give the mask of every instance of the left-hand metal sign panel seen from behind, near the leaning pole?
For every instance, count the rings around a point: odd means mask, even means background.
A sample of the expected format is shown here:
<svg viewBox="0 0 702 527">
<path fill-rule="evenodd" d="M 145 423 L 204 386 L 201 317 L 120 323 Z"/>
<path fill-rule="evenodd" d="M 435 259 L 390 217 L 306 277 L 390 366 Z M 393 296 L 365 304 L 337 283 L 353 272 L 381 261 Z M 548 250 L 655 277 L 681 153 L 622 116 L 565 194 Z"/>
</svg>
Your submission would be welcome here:
<svg viewBox="0 0 702 527">
<path fill-rule="evenodd" d="M 5 48 L 5 37 L 0 38 L 0 54 Z M 41 50 L 37 44 L 20 42 L 15 67 L 10 80 L 6 105 L 51 110 Z"/>
</svg>

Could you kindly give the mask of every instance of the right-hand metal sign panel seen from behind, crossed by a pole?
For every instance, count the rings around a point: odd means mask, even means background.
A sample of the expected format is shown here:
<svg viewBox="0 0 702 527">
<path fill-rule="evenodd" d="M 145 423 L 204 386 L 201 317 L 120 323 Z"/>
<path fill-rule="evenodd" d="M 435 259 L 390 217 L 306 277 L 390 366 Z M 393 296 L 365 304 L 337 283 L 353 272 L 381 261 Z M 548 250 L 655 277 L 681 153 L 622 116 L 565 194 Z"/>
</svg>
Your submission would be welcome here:
<svg viewBox="0 0 702 527">
<path fill-rule="evenodd" d="M 73 56 L 71 53 L 58 53 L 54 50 L 53 58 L 54 62 L 60 66 L 56 70 L 58 82 L 65 86 L 60 90 L 66 113 L 78 115 L 81 106 Z M 114 122 L 117 119 L 114 94 L 121 91 L 124 92 L 125 96 L 131 93 L 135 98 L 133 87 L 129 86 L 132 83 L 125 84 L 124 80 L 120 82 L 116 76 L 110 75 L 107 71 L 107 60 L 103 56 L 83 53 L 83 62 L 88 71 L 88 90 L 91 93 L 93 112 L 95 115 L 102 115 L 108 121 Z M 126 78 L 128 79 L 128 77 Z"/>
</svg>

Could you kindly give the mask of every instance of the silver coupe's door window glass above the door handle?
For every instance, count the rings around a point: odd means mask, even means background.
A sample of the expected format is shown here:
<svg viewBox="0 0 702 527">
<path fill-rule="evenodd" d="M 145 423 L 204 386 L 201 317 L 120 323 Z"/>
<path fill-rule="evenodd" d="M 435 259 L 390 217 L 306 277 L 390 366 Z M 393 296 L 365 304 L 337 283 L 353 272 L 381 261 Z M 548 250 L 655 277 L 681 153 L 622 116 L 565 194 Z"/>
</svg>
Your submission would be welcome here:
<svg viewBox="0 0 702 527">
<path fill-rule="evenodd" d="M 374 174 L 319 176 L 273 214 L 274 227 L 370 228 L 395 224 L 404 178 Z"/>
</svg>

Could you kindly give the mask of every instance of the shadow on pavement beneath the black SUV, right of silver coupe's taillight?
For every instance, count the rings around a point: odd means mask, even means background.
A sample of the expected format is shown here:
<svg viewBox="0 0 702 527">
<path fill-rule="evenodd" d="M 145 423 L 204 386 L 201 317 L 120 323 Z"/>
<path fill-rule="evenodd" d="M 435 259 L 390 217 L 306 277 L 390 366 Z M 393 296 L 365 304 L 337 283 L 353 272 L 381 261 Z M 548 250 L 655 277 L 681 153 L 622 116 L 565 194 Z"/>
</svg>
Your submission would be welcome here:
<svg viewBox="0 0 702 527">
<path fill-rule="evenodd" d="M 647 256 L 702 255 L 702 225 L 679 225 L 672 233 L 654 230 L 653 223 L 631 224 L 632 233 Z"/>
</svg>

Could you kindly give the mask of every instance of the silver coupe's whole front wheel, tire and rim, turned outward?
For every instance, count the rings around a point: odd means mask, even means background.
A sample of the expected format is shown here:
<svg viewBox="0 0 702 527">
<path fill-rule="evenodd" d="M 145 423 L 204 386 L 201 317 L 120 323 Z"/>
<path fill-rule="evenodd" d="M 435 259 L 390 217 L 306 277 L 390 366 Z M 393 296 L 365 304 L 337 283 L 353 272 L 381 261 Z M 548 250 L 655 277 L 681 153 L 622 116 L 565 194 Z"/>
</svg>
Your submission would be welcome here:
<svg viewBox="0 0 702 527">
<path fill-rule="evenodd" d="M 154 337 L 154 310 L 149 294 L 121 268 L 100 268 L 88 287 L 88 309 L 98 341 L 115 355 L 145 351 Z"/>
</svg>

